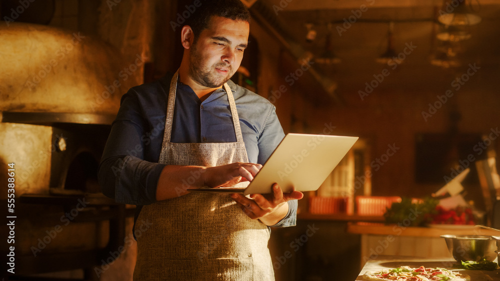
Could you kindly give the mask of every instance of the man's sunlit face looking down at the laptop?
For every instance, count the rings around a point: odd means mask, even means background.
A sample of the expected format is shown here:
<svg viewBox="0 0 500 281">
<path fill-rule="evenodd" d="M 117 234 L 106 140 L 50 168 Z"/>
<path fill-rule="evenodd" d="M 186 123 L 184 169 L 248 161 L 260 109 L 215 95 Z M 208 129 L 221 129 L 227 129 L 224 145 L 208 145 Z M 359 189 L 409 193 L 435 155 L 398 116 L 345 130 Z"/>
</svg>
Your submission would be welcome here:
<svg viewBox="0 0 500 281">
<path fill-rule="evenodd" d="M 190 48 L 188 75 L 198 84 L 218 88 L 238 69 L 248 44 L 249 24 L 212 16 Z"/>
</svg>

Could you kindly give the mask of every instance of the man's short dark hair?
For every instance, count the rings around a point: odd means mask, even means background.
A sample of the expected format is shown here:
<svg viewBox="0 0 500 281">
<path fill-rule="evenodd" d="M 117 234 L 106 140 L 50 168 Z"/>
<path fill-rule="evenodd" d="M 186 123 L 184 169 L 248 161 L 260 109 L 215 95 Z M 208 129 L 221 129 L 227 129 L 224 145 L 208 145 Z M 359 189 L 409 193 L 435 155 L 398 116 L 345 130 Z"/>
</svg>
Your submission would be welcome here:
<svg viewBox="0 0 500 281">
<path fill-rule="evenodd" d="M 240 0 L 198 0 L 201 5 L 192 12 L 185 24 L 194 33 L 194 39 L 208 27 L 212 16 L 221 16 L 232 20 L 250 22 L 250 12 Z"/>
</svg>

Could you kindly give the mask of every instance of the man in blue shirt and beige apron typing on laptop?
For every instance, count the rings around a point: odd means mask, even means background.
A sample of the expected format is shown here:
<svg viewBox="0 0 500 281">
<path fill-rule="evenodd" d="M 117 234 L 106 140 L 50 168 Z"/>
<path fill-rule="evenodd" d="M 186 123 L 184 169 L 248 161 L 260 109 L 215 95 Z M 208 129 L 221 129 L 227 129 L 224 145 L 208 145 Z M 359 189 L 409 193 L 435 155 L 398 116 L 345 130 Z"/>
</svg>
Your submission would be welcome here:
<svg viewBox="0 0 500 281">
<path fill-rule="evenodd" d="M 150 225 L 136 237 L 134 280 L 274 280 L 269 226 L 294 225 L 302 193 L 277 184 L 250 198 L 187 191 L 246 186 L 283 138 L 274 106 L 229 80 L 249 18 L 239 0 L 203 1 L 181 29 L 173 77 L 121 99 L 99 182 Z"/>
</svg>

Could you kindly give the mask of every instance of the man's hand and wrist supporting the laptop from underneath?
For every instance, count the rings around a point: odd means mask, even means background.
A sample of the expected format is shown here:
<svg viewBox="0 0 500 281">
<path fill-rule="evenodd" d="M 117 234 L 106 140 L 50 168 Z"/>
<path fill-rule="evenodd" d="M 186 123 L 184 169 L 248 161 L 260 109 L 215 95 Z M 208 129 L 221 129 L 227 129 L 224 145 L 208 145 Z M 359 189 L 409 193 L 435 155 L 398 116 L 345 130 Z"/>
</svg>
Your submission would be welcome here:
<svg viewBox="0 0 500 281">
<path fill-rule="evenodd" d="M 272 226 L 282 220 L 288 213 L 289 200 L 302 199 L 300 191 L 283 193 L 278 184 L 272 185 L 272 194 L 252 194 L 246 198 L 242 194 L 231 194 L 231 198 L 251 219 L 259 219 L 263 224 Z"/>
</svg>

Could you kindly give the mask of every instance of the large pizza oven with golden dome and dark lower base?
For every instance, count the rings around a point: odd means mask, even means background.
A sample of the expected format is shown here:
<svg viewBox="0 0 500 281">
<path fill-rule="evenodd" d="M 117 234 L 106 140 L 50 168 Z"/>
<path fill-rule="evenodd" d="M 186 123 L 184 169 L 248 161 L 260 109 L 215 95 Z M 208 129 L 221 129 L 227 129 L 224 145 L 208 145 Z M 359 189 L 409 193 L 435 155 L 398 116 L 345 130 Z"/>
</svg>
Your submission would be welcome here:
<svg viewBox="0 0 500 281">
<path fill-rule="evenodd" d="M 97 169 L 143 59 L 131 67 L 107 43 L 45 25 L 1 25 L 0 38 L 0 167 L 15 164 L 18 231 L 7 245 L 15 246 L 15 278 L 78 271 L 92 280 L 123 246 L 133 214 L 100 193 Z"/>
</svg>

